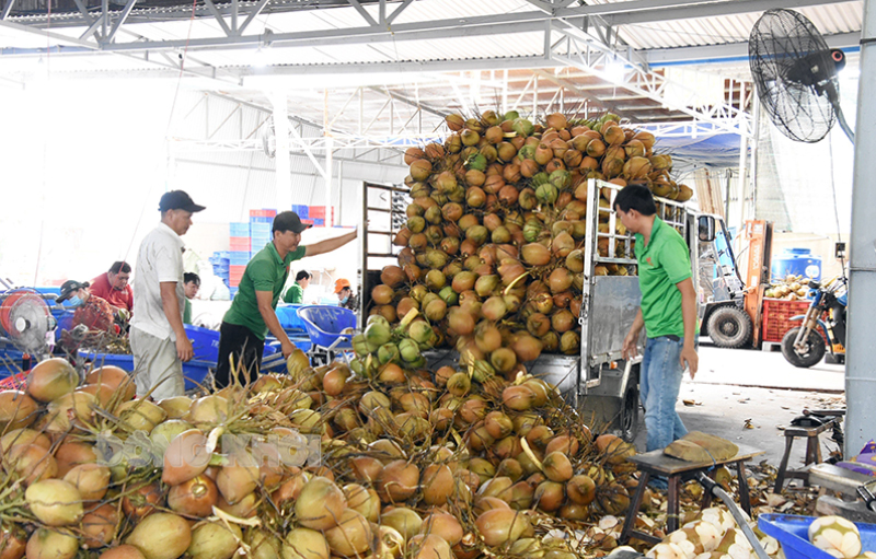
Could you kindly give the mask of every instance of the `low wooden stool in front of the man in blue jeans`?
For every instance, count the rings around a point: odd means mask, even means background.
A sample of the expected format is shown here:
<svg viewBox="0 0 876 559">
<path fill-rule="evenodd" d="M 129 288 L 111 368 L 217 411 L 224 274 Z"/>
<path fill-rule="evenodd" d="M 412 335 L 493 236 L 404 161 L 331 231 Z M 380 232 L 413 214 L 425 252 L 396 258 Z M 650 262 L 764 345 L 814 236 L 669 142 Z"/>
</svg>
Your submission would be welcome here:
<svg viewBox="0 0 876 559">
<path fill-rule="evenodd" d="M 746 466 L 745 463 L 754 456 L 763 454 L 764 451 L 758 451 L 750 446 L 739 445 L 739 452 L 733 458 L 726 461 L 714 461 L 708 463 L 684 462 L 672 456 L 667 456 L 664 451 L 652 451 L 645 454 L 638 454 L 631 458 L 630 462 L 634 463 L 642 476 L 638 478 L 638 488 L 635 496 L 630 503 L 630 510 L 626 512 L 626 519 L 623 522 L 623 529 L 621 531 L 621 538 L 619 543 L 625 544 L 631 536 L 635 536 L 643 541 L 649 544 L 660 543 L 660 538 L 656 538 L 650 534 L 645 534 L 633 529 L 635 524 L 636 513 L 642 504 L 642 498 L 645 496 L 645 488 L 648 485 L 650 476 L 665 476 L 669 488 L 667 489 L 667 508 L 666 508 L 666 532 L 667 534 L 678 529 L 678 498 L 679 489 L 681 488 L 682 475 L 694 475 L 698 471 L 706 471 L 714 466 L 723 466 L 725 464 L 736 464 L 736 474 L 739 478 L 739 503 L 742 509 L 751 515 L 751 501 L 748 494 L 748 481 L 746 480 Z M 703 496 L 701 508 L 705 509 L 712 503 L 712 494 L 706 493 Z"/>
</svg>

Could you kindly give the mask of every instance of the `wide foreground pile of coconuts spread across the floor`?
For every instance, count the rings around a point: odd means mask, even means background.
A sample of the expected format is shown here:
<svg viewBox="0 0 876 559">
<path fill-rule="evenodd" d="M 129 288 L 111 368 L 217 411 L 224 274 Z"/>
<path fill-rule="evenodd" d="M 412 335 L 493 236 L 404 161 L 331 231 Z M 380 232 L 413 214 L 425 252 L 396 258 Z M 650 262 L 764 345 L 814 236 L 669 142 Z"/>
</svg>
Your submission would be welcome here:
<svg viewBox="0 0 876 559">
<path fill-rule="evenodd" d="M 296 351 L 287 374 L 152 401 L 122 369 L 42 361 L 0 392 L 0 557 L 586 557 L 545 539 L 565 527 L 616 546 L 587 531 L 629 506 L 631 445 L 538 379 L 400 363 Z"/>
</svg>

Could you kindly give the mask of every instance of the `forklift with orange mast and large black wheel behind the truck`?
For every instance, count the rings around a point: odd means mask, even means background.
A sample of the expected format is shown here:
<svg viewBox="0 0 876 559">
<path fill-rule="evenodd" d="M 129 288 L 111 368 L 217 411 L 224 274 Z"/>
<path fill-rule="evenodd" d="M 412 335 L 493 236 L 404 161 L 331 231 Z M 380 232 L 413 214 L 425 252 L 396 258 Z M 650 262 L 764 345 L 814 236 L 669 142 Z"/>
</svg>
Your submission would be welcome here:
<svg viewBox="0 0 876 559">
<path fill-rule="evenodd" d="M 763 292 L 770 284 L 773 224 L 764 220 L 746 221 L 742 232 L 748 247 L 746 280 L 739 273 L 724 220 L 715 241 L 701 251 L 700 296 L 704 312 L 700 335 L 708 336 L 719 348 L 760 347 Z M 712 278 L 711 284 L 708 278 Z"/>
</svg>

